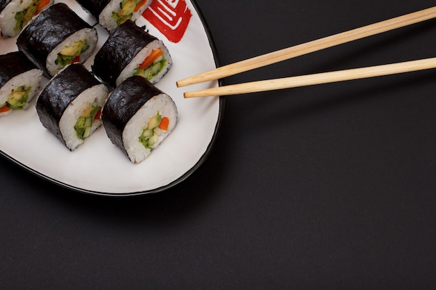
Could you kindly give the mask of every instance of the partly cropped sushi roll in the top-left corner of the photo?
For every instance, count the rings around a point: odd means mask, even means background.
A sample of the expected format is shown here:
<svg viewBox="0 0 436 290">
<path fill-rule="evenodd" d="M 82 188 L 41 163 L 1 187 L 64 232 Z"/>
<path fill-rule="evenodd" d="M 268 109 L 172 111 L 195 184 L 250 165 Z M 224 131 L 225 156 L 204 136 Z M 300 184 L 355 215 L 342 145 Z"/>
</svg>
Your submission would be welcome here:
<svg viewBox="0 0 436 290">
<path fill-rule="evenodd" d="M 29 21 L 53 0 L 1 0 L 0 27 L 5 38 L 17 36 Z"/>
</svg>

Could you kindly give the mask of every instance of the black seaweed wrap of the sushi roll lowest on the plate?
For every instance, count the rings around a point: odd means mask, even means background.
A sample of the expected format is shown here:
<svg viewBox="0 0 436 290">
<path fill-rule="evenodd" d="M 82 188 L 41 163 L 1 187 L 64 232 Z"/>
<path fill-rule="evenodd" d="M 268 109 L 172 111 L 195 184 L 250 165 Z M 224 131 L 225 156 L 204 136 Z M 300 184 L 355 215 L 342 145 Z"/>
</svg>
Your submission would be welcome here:
<svg viewBox="0 0 436 290">
<path fill-rule="evenodd" d="M 125 154 L 125 125 L 149 99 L 163 93 L 142 76 L 130 76 L 109 95 L 102 110 L 103 126 L 111 142 L 120 147 Z"/>
</svg>

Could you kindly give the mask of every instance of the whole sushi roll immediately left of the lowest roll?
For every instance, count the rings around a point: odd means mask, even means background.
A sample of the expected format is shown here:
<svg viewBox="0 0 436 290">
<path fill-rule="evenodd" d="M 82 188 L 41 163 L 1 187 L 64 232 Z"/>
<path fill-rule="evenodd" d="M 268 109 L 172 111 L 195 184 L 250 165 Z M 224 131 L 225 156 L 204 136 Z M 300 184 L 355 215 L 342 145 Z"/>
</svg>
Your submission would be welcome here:
<svg viewBox="0 0 436 290">
<path fill-rule="evenodd" d="M 100 113 L 109 89 L 81 63 L 56 74 L 40 93 L 36 112 L 42 125 L 74 151 L 102 122 Z"/>
</svg>

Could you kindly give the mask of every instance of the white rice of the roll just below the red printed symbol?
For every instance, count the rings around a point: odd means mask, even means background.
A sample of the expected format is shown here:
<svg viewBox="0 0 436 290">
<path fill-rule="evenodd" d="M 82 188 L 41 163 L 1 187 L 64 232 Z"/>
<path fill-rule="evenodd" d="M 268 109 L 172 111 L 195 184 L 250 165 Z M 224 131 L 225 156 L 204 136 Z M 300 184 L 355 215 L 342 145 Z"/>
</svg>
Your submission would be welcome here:
<svg viewBox="0 0 436 290">
<path fill-rule="evenodd" d="M 151 51 L 155 49 L 161 49 L 162 51 L 164 51 L 162 57 L 166 59 L 166 66 L 161 72 L 159 72 L 159 74 L 156 74 L 155 76 L 153 76 L 153 79 L 149 79 L 148 81 L 150 81 L 150 83 L 153 84 L 160 81 L 164 77 L 166 72 L 168 72 L 169 69 L 171 68 L 173 61 L 169 54 L 169 50 L 164 45 L 164 42 L 162 42 L 162 40 L 153 40 L 148 45 L 146 45 L 146 47 L 141 49 L 141 51 L 139 51 L 139 53 L 136 56 L 134 56 L 132 61 L 130 61 L 130 63 L 125 66 L 124 70 L 120 73 L 120 75 L 116 79 L 116 85 L 118 86 L 119 83 L 121 83 L 128 77 L 132 76 L 134 72 L 137 70 L 137 68 L 139 67 L 139 65 L 143 63 L 144 59 L 146 59 L 146 57 L 151 54 Z"/>
</svg>

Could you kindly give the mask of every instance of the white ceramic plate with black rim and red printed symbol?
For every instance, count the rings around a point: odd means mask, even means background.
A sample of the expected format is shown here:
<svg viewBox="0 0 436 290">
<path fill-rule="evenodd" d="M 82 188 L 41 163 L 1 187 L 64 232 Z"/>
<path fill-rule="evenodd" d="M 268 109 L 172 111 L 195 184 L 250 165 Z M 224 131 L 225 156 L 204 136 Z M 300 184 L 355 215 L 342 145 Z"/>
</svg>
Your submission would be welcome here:
<svg viewBox="0 0 436 290">
<path fill-rule="evenodd" d="M 1 155 L 50 182 L 81 193 L 126 196 L 156 193 L 170 188 L 186 179 L 205 161 L 217 138 L 224 99 L 184 99 L 183 92 L 216 87 L 219 83 L 211 81 L 189 88 L 177 88 L 176 81 L 214 69 L 217 65 L 215 48 L 193 0 L 154 1 L 160 6 L 155 6 L 158 8 L 155 9 L 156 19 L 162 19 L 169 31 L 162 29 L 163 26 L 152 25 L 144 17 L 138 19 L 137 24 L 145 25 L 149 33 L 163 40 L 173 58 L 173 67 L 157 87 L 176 102 L 178 124 L 148 159 L 139 164 L 131 163 L 107 138 L 104 127 L 95 131 L 77 150 L 70 152 L 52 133 L 42 127 L 36 113 L 36 97 L 26 111 L 15 111 L 0 118 Z M 75 1 L 56 2 L 68 4 L 86 22 L 95 24 L 95 19 Z M 189 14 L 187 9 L 192 17 L 183 38 L 177 41 L 166 37 L 177 32 L 184 17 L 182 13 Z M 168 21 L 164 19 L 165 16 L 169 17 Z M 98 29 L 99 42 L 94 55 L 108 35 L 100 25 L 95 27 Z M 0 40 L 0 53 L 16 51 L 15 41 L 16 38 Z M 91 70 L 92 63 L 93 56 L 84 65 Z M 45 79 L 42 85 L 47 81 Z"/>
</svg>

